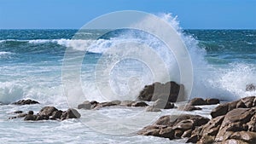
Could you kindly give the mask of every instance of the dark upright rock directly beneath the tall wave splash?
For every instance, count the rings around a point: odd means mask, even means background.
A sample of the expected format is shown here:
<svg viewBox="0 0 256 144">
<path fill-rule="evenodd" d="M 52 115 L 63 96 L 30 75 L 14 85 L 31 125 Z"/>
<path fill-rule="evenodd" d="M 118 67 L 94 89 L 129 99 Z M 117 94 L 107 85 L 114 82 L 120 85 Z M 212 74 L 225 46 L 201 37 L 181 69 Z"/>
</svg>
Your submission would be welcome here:
<svg viewBox="0 0 256 144">
<path fill-rule="evenodd" d="M 137 98 L 143 101 L 156 101 L 163 95 L 165 95 L 164 100 L 169 102 L 176 102 L 178 98 L 184 99 L 183 84 L 175 82 L 160 84 L 155 82 L 154 84 L 146 85 Z"/>
</svg>

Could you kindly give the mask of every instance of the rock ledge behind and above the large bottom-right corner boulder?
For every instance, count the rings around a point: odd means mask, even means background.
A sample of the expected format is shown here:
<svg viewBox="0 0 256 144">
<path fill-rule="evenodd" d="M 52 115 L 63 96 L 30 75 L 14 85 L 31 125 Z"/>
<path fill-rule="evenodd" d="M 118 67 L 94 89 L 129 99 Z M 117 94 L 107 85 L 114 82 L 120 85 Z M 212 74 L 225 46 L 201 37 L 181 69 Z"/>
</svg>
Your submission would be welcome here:
<svg viewBox="0 0 256 144">
<path fill-rule="evenodd" d="M 227 112 L 235 108 L 251 108 L 256 107 L 256 96 L 249 96 L 242 98 L 238 101 L 231 101 L 228 103 L 220 104 L 218 107 L 215 107 L 212 112 L 212 118 L 216 118 L 218 116 L 224 115 Z"/>
</svg>

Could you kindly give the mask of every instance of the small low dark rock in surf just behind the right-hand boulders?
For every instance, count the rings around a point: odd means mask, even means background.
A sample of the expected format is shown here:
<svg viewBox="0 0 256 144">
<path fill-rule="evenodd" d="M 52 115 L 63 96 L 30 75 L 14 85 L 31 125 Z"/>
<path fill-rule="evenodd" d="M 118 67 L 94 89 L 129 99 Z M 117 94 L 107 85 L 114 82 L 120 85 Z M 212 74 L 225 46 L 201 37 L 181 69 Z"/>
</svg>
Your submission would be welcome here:
<svg viewBox="0 0 256 144">
<path fill-rule="evenodd" d="M 219 103 L 218 99 L 202 99 L 202 98 L 194 98 L 189 101 L 190 106 L 202 106 L 202 105 L 216 105 Z"/>
</svg>

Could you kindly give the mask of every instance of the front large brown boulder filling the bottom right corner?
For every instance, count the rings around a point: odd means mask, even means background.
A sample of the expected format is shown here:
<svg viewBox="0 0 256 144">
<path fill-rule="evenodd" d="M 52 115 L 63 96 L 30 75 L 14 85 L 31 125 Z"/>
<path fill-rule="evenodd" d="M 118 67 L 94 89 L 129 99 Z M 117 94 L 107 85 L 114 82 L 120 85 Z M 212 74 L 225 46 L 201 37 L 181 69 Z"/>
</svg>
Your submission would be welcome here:
<svg viewBox="0 0 256 144">
<path fill-rule="evenodd" d="M 192 132 L 188 142 L 249 143 L 256 141 L 256 107 L 236 108 L 225 115 L 212 118 Z"/>
</svg>

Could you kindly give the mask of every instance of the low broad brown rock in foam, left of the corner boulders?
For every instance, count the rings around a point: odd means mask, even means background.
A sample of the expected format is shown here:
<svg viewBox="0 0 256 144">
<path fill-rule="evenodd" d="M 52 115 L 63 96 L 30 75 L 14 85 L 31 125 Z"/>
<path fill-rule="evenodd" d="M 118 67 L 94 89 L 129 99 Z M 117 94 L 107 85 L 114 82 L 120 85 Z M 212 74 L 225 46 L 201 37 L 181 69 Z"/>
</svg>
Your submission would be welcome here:
<svg viewBox="0 0 256 144">
<path fill-rule="evenodd" d="M 162 116 L 153 125 L 146 126 L 139 130 L 139 135 L 154 135 L 169 139 L 189 137 L 195 127 L 207 124 L 208 118 L 198 115 Z"/>
</svg>

